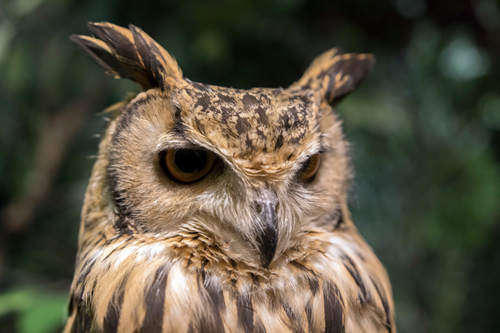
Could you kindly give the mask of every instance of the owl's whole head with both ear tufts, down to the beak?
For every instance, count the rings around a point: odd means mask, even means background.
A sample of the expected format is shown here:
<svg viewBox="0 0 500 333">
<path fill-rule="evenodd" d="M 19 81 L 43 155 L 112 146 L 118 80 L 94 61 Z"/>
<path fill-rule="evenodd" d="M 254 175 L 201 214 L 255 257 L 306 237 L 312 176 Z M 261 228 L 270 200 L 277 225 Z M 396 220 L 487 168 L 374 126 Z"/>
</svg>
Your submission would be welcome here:
<svg viewBox="0 0 500 333">
<path fill-rule="evenodd" d="M 187 79 L 135 26 L 89 26 L 94 37 L 72 40 L 143 89 L 111 121 L 90 182 L 113 232 L 199 235 L 269 267 L 304 234 L 346 223 L 351 172 L 332 106 L 369 72 L 371 55 L 332 49 L 288 88 L 242 90 Z"/>
</svg>

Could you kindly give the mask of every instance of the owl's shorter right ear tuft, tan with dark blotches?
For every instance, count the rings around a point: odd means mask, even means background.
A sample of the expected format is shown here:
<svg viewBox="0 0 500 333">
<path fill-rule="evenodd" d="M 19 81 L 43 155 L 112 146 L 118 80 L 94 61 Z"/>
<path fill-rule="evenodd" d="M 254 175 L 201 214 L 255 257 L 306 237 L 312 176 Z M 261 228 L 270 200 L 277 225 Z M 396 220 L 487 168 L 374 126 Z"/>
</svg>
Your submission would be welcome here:
<svg viewBox="0 0 500 333">
<path fill-rule="evenodd" d="M 371 54 L 342 53 L 339 49 L 331 49 L 314 59 L 300 80 L 290 88 L 318 91 L 322 98 L 334 105 L 356 89 L 374 64 L 375 57 Z"/>
</svg>

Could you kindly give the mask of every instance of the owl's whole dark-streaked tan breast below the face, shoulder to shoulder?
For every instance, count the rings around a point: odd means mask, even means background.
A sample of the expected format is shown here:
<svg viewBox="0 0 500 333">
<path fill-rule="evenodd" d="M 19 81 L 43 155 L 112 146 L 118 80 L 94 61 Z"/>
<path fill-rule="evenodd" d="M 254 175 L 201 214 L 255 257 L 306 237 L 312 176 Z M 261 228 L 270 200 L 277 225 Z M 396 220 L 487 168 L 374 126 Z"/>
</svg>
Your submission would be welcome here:
<svg viewBox="0 0 500 333">
<path fill-rule="evenodd" d="M 298 251 L 265 270 L 130 245 L 89 256 L 74 295 L 104 332 L 343 332 L 360 315 L 383 328 L 386 281 L 369 268 L 377 262 L 356 257 L 359 246 L 337 245 Z"/>
</svg>

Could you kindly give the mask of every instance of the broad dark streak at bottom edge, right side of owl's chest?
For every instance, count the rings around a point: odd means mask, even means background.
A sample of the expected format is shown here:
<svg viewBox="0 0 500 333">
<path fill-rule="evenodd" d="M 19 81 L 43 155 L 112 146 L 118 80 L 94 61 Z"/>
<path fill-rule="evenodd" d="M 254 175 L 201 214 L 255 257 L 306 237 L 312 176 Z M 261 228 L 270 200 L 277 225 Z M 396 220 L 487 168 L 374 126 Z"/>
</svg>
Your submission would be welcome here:
<svg viewBox="0 0 500 333">
<path fill-rule="evenodd" d="M 325 333 L 344 333 L 344 309 L 342 296 L 332 283 L 323 284 Z"/>
</svg>

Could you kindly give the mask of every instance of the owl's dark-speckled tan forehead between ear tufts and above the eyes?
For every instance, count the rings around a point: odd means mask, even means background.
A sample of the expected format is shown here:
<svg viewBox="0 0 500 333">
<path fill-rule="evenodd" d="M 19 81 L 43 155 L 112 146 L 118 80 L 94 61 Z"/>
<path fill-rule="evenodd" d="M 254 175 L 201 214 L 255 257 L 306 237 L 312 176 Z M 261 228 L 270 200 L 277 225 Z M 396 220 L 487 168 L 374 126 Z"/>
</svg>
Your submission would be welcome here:
<svg viewBox="0 0 500 333">
<path fill-rule="evenodd" d="M 306 90 L 189 82 L 175 95 L 183 123 L 234 158 L 286 159 L 317 137 L 319 105 Z"/>
</svg>

